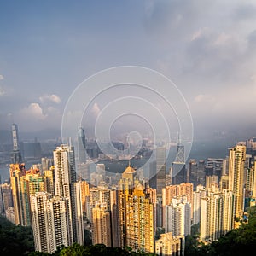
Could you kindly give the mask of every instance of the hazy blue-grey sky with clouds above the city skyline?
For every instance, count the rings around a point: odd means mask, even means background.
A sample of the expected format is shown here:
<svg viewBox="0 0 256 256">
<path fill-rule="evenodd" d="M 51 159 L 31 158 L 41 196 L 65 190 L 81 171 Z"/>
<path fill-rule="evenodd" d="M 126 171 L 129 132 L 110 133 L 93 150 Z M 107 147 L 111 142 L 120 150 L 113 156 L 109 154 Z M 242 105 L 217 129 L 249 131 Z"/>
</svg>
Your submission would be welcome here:
<svg viewBox="0 0 256 256">
<path fill-rule="evenodd" d="M 102 71 L 126 66 L 152 70 L 175 87 L 166 85 L 159 98 L 138 85 L 130 90 L 122 84 L 104 93 L 93 83 L 84 85 Z M 254 136 L 255 67 L 255 1 L 0 2 L 0 129 L 16 123 L 20 131 L 61 130 L 69 103 L 84 86 L 79 101 L 84 98 L 87 106 L 80 109 L 86 113 L 85 126 L 95 128 L 97 118 L 108 116 L 120 98 L 125 100 L 116 107 L 126 108 L 112 117 L 110 130 L 132 133 L 140 122 L 154 130 L 159 118 L 178 125 L 183 117 L 162 104 L 176 90 L 195 136 L 212 131 Z M 87 94 L 95 94 L 91 102 Z M 145 112 L 136 113 L 134 106 Z"/>
</svg>

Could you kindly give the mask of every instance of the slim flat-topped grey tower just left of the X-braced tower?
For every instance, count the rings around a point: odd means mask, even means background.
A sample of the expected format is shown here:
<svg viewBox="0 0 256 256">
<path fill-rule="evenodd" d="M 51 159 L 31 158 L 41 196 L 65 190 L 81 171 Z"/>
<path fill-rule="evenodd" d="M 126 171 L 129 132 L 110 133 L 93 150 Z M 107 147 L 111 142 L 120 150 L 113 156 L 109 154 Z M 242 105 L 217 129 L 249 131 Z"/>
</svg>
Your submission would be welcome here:
<svg viewBox="0 0 256 256">
<path fill-rule="evenodd" d="M 162 189 L 166 187 L 166 148 L 156 148 L 156 193 L 162 195 Z"/>
</svg>

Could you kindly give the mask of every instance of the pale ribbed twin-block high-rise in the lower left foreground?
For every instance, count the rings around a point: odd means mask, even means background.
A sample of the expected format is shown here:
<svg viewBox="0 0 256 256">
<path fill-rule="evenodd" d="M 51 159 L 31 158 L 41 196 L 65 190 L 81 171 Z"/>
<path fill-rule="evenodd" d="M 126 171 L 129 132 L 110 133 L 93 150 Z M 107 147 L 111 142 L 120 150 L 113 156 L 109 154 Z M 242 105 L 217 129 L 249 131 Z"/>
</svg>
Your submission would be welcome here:
<svg viewBox="0 0 256 256">
<path fill-rule="evenodd" d="M 73 232 L 69 223 L 67 198 L 38 192 L 31 196 L 32 230 L 35 251 L 54 253 L 57 247 L 71 246 Z"/>
</svg>

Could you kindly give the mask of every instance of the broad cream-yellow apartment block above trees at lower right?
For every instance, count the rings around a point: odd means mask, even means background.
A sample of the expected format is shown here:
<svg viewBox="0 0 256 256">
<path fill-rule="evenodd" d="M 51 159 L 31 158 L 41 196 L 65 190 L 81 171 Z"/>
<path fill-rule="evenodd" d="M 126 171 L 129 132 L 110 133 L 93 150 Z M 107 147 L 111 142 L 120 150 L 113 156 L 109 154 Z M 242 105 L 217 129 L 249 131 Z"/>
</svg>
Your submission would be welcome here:
<svg viewBox="0 0 256 256">
<path fill-rule="evenodd" d="M 234 228 L 234 195 L 224 189 L 201 198 L 200 241 L 217 241 Z"/>
</svg>

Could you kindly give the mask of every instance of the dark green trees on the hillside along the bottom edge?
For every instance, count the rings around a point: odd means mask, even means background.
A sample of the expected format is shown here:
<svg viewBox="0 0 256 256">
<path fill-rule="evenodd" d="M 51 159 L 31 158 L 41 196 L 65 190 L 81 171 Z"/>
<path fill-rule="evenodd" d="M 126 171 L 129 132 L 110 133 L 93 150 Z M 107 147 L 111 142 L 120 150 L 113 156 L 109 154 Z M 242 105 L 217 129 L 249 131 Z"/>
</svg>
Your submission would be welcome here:
<svg viewBox="0 0 256 256">
<path fill-rule="evenodd" d="M 248 219 L 241 223 L 241 227 L 231 230 L 218 241 L 204 245 L 197 240 L 198 227 L 192 230 L 191 236 L 186 237 L 185 255 L 189 256 L 236 256 L 254 249 L 256 245 L 256 207 L 248 209 Z M 154 253 L 133 252 L 130 247 L 113 248 L 102 244 L 80 246 L 73 244 L 71 247 L 59 247 L 55 253 L 34 252 L 32 229 L 29 227 L 15 226 L 0 217 L 0 255 L 28 255 L 28 256 L 120 256 L 120 255 L 150 255 Z"/>
</svg>

